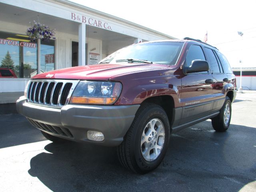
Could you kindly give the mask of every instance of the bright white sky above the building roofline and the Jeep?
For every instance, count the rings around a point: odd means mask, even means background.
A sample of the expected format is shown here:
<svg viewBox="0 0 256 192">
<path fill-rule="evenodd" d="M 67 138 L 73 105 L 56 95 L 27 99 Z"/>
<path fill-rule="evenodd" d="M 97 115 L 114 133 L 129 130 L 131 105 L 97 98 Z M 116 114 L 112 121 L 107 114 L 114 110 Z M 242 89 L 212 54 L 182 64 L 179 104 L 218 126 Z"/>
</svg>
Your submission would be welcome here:
<svg viewBox="0 0 256 192">
<path fill-rule="evenodd" d="M 232 68 L 256 67 L 254 0 L 70 0 L 175 38 L 216 46 Z M 243 32 L 243 36 L 238 35 Z M 241 62 L 240 62 L 241 61 Z"/>
</svg>

